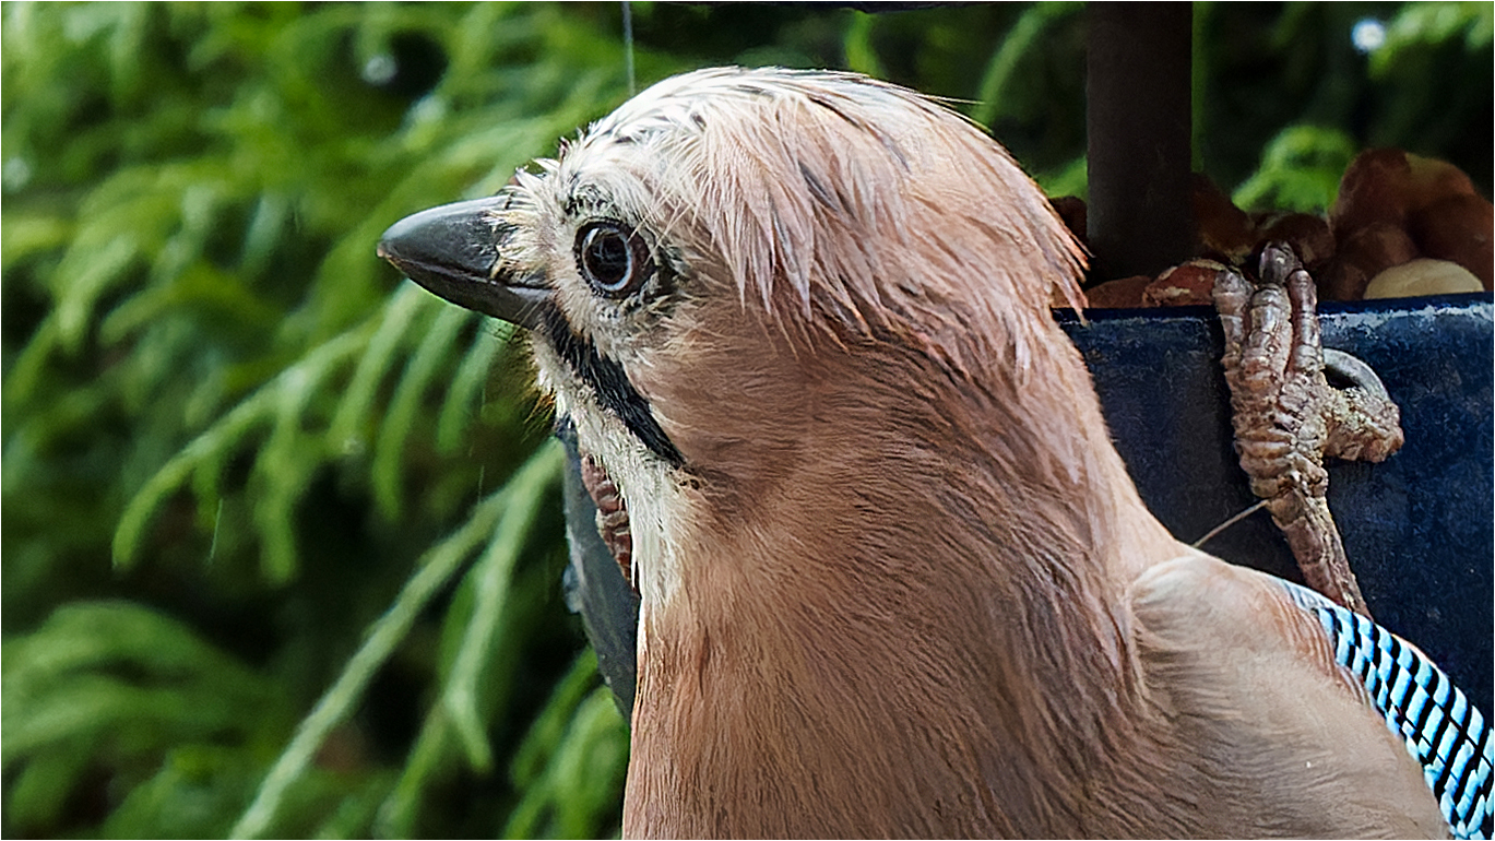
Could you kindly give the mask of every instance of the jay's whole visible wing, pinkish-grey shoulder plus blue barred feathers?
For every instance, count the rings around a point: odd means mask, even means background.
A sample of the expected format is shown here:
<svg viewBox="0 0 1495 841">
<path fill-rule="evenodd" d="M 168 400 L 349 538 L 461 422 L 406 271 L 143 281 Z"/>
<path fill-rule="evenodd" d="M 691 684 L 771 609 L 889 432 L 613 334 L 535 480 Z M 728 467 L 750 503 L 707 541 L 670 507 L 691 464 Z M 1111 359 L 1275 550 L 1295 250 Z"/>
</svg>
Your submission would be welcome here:
<svg viewBox="0 0 1495 841">
<path fill-rule="evenodd" d="M 1269 777 L 1274 819 L 1289 826 L 1295 810 L 1310 822 L 1319 810 L 1341 828 L 1429 832 L 1441 829 L 1428 826 L 1435 804 L 1444 832 L 1491 837 L 1489 727 L 1410 642 L 1203 554 L 1138 576 L 1132 609 L 1150 696 L 1181 723 L 1200 774 L 1223 781 L 1220 796 Z"/>
</svg>

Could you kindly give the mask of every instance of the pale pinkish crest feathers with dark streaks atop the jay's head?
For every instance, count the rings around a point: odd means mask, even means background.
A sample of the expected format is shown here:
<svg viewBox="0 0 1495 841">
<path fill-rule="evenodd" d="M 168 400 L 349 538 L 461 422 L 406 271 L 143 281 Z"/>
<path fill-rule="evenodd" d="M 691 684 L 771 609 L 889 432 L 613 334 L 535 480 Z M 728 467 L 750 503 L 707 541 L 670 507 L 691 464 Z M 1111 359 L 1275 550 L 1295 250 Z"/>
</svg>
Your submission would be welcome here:
<svg viewBox="0 0 1495 841">
<path fill-rule="evenodd" d="M 701 70 L 641 93 L 588 142 L 604 138 L 667 159 L 661 198 L 704 229 L 740 298 L 780 323 L 1023 370 L 1054 287 L 1082 301 L 1082 251 L 1042 192 L 978 126 L 906 88 Z"/>
</svg>

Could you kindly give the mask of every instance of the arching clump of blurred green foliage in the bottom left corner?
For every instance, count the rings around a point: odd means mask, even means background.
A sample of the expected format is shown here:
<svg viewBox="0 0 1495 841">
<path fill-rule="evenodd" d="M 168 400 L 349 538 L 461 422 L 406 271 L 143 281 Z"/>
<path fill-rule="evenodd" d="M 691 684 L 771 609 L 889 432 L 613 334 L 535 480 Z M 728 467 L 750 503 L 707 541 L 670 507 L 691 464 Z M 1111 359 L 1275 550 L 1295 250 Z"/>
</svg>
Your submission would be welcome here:
<svg viewBox="0 0 1495 841">
<path fill-rule="evenodd" d="M 196 799 L 230 808 L 250 783 L 248 768 L 217 745 L 266 750 L 293 721 L 272 681 L 202 642 L 191 629 L 141 605 L 75 602 L 34 633 L 3 648 L 0 766 L 7 777 L 7 820 L 49 826 L 63 819 L 72 781 L 90 759 L 108 757 L 121 784 L 139 786 L 136 804 L 188 835 L 221 834 L 224 811 L 194 814 Z M 169 751 L 157 768 L 154 756 Z M 176 777 L 161 786 L 161 774 Z M 147 793 L 150 790 L 150 793 Z M 111 823 L 127 835 L 163 825 L 121 807 Z M 164 826 L 172 826 L 166 823 Z"/>
</svg>

